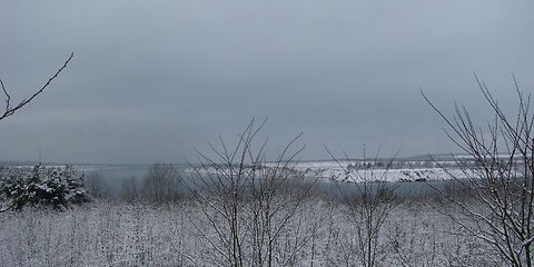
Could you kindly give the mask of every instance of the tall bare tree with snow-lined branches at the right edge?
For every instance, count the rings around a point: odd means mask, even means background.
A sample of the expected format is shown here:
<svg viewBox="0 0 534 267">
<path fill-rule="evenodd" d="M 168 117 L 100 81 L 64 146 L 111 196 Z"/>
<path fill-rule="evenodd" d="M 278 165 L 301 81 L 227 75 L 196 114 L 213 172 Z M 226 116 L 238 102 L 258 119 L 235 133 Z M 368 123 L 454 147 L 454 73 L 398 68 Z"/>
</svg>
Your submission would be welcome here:
<svg viewBox="0 0 534 267">
<path fill-rule="evenodd" d="M 520 90 L 517 111 L 508 117 L 475 75 L 483 99 L 494 113 L 486 127 L 472 121 L 464 106 L 445 116 L 422 91 L 423 98 L 447 125 L 448 138 L 469 157 L 454 157 L 461 174 L 447 171 L 463 198 L 434 187 L 452 207 L 442 208 L 465 235 L 493 247 L 503 264 L 532 266 L 534 241 L 534 115 L 531 95 Z"/>
</svg>

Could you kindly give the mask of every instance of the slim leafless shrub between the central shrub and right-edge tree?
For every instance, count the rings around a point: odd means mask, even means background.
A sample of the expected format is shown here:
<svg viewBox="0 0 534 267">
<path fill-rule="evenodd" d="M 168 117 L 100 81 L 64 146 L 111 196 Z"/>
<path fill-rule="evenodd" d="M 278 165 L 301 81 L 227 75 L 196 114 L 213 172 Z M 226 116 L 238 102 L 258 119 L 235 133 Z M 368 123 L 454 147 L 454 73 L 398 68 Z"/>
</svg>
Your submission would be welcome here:
<svg viewBox="0 0 534 267">
<path fill-rule="evenodd" d="M 359 258 L 360 266 L 379 266 L 389 253 L 388 244 L 380 238 L 384 224 L 399 205 L 395 194 L 397 186 L 384 182 L 394 162 L 394 157 L 377 168 L 375 166 L 378 162 L 379 149 L 374 159 L 367 160 L 364 147 L 362 162 L 352 162 L 346 155 L 345 160 L 340 161 L 328 148 L 326 150 L 345 172 L 343 180 L 350 182 L 356 188 L 355 191 L 352 191 L 336 184 L 343 198 L 342 211 L 355 229 L 356 251 L 354 253 Z"/>
</svg>

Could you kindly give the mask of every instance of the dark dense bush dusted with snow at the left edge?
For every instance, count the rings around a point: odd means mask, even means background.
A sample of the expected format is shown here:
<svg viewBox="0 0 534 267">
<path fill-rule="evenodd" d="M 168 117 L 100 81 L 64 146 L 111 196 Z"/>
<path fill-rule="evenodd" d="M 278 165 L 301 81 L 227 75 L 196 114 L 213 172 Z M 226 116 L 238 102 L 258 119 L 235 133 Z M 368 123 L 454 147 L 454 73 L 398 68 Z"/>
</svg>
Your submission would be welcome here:
<svg viewBox="0 0 534 267">
<path fill-rule="evenodd" d="M 71 166 L 36 166 L 31 171 L 4 168 L 0 171 L 0 191 L 13 209 L 47 206 L 55 209 L 89 201 L 83 182 Z"/>
</svg>

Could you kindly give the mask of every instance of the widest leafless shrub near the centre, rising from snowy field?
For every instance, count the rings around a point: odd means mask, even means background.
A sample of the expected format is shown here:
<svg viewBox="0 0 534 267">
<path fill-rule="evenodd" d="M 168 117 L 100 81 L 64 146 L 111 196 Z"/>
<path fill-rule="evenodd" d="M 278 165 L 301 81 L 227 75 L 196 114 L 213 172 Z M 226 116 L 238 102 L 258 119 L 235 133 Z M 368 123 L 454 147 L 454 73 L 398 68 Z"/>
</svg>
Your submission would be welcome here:
<svg viewBox="0 0 534 267">
<path fill-rule="evenodd" d="M 287 266 L 319 225 L 306 230 L 300 224 L 289 227 L 314 181 L 299 181 L 301 177 L 291 168 L 304 149 L 294 148 L 300 135 L 276 160 L 266 160 L 266 141 L 256 147 L 265 122 L 256 127 L 253 120 L 234 148 L 219 137 L 219 148 L 210 144 L 216 159 L 197 151 L 200 164 L 190 164 L 192 185 L 188 187 L 209 227 L 191 224 L 216 251 L 216 265 Z M 289 230 L 295 241 L 283 248 L 279 240 Z"/>
</svg>

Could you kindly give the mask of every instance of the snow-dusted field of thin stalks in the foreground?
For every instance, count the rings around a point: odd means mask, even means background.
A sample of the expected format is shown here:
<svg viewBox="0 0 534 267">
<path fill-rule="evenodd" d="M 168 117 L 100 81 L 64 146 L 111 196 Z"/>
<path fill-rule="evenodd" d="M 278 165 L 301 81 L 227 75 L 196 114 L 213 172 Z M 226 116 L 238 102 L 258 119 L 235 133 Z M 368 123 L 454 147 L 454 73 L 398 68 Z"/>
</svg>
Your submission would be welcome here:
<svg viewBox="0 0 534 267">
<path fill-rule="evenodd" d="M 251 230 L 247 210 L 240 215 L 244 237 Z M 380 231 L 377 266 L 496 265 L 484 244 L 455 235 L 458 231 L 428 202 L 403 204 Z M 189 202 L 96 202 L 62 212 L 28 209 L 0 216 L 0 266 L 229 266 L 214 248 L 220 246 L 216 236 L 201 209 Z M 245 266 L 253 266 L 253 244 L 243 240 Z M 273 266 L 363 263 L 345 208 L 316 198 L 304 202 L 273 246 Z"/>
</svg>

